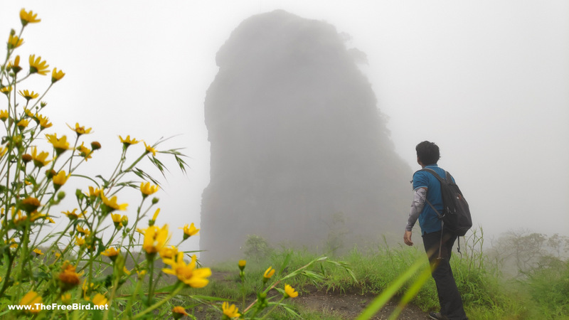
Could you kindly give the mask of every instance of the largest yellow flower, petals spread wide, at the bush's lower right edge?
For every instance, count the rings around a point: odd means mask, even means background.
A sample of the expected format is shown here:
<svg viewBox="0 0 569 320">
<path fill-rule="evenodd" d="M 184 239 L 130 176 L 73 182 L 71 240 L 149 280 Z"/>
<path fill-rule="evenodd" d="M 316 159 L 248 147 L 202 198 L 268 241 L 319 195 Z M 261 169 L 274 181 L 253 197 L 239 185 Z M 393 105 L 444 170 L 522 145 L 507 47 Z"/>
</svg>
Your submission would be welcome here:
<svg viewBox="0 0 569 320">
<path fill-rule="evenodd" d="M 186 265 L 186 262 L 184 262 L 184 252 L 179 252 L 176 260 L 164 259 L 164 263 L 170 265 L 171 269 L 162 269 L 162 272 L 175 275 L 181 282 L 188 284 L 190 287 L 206 287 L 209 282 L 206 278 L 211 276 L 211 270 L 210 268 L 196 269 L 196 260 L 196 255 L 193 255 L 189 265 Z"/>
</svg>

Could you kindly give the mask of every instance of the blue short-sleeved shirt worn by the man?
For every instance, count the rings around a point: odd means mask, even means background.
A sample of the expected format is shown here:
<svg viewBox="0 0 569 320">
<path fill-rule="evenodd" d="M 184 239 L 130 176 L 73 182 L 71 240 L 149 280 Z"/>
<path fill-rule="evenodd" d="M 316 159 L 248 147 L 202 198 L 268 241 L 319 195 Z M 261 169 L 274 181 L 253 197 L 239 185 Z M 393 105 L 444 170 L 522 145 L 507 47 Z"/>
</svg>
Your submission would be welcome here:
<svg viewBox="0 0 569 320">
<path fill-rule="evenodd" d="M 430 164 L 425 166 L 425 169 L 434 170 L 441 178 L 445 178 L 446 171 L 440 169 L 437 164 Z M 440 182 L 427 171 L 417 171 L 413 175 L 413 190 L 418 188 L 427 188 L 427 201 L 434 206 L 440 213 L 442 213 L 442 193 L 440 192 Z M 425 201 L 425 206 L 419 214 L 419 225 L 421 233 L 434 233 L 440 231 L 440 219 L 435 210 L 432 210 L 429 203 Z"/>
</svg>

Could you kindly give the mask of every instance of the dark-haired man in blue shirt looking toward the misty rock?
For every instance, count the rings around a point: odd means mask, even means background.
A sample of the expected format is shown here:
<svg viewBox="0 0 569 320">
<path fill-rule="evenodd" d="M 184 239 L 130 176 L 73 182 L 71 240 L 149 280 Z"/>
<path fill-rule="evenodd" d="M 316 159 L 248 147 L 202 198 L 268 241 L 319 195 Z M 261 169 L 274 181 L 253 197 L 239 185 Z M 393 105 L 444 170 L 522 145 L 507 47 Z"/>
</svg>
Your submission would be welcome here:
<svg viewBox="0 0 569 320">
<path fill-rule="evenodd" d="M 432 169 L 445 178 L 445 170 L 437 166 L 440 153 L 436 144 L 424 141 L 418 144 L 415 150 L 417 151 L 417 162 L 422 168 Z M 468 319 L 450 269 L 450 255 L 457 235 L 445 231 L 435 210 L 428 204 L 425 206 L 425 202 L 429 201 L 435 209 L 442 213 L 440 182 L 430 172 L 417 171 L 413 175 L 413 191 L 415 194 L 403 241 L 406 245 L 413 245 L 411 240 L 413 225 L 419 220 L 425 251 L 429 262 L 435 267 L 432 277 L 437 284 L 440 303 L 440 312 L 430 312 L 429 316 L 431 319 Z"/>
</svg>

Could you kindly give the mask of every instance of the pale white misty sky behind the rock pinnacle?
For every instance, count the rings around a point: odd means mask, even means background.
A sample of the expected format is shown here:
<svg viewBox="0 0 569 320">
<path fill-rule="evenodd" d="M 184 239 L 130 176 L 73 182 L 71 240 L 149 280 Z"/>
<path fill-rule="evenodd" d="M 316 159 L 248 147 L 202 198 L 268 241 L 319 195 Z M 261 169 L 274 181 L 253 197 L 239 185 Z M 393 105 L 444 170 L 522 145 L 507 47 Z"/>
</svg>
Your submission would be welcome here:
<svg viewBox="0 0 569 320">
<path fill-rule="evenodd" d="M 166 161 L 162 180 L 158 223 L 171 230 L 199 225 L 217 50 L 245 18 L 285 9 L 351 36 L 395 150 L 415 170 L 415 145 L 436 142 L 486 235 L 569 234 L 568 1 L 5 1 L 6 39 L 21 8 L 42 19 L 26 27 L 21 64 L 35 53 L 66 73 L 45 98 L 51 131 L 71 134 L 65 123 L 79 122 L 103 145 L 88 166 L 112 172 L 119 134 L 177 135 L 164 147 L 186 148 L 187 176 Z M 49 81 L 40 80 L 28 89 Z"/>
</svg>

